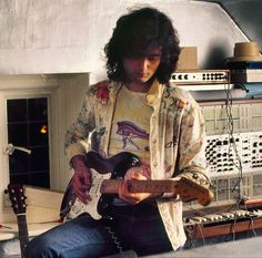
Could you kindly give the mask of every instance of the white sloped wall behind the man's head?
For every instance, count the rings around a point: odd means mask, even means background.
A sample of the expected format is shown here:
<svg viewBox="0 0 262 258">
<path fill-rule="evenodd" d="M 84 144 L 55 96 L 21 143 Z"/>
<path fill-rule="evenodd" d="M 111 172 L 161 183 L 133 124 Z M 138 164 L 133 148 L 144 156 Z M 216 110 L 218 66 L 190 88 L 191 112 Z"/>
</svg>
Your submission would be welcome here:
<svg viewBox="0 0 262 258">
<path fill-rule="evenodd" d="M 167 12 L 181 45 L 196 45 L 200 69 L 220 68 L 246 41 L 216 3 L 191 0 L 0 0 L 0 73 L 92 72 L 103 79 L 103 47 L 133 6 Z"/>
</svg>

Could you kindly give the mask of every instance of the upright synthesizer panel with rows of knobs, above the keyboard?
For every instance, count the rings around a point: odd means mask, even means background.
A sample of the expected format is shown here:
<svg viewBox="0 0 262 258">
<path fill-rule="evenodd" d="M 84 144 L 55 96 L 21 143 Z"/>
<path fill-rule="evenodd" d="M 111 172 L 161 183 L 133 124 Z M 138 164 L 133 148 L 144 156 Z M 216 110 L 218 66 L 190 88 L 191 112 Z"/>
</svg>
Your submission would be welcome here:
<svg viewBox="0 0 262 258">
<path fill-rule="evenodd" d="M 224 102 L 200 103 L 200 106 L 205 121 L 205 156 L 214 192 L 211 206 L 233 202 L 239 194 L 262 198 L 262 100 L 235 102 L 230 107 Z"/>
</svg>

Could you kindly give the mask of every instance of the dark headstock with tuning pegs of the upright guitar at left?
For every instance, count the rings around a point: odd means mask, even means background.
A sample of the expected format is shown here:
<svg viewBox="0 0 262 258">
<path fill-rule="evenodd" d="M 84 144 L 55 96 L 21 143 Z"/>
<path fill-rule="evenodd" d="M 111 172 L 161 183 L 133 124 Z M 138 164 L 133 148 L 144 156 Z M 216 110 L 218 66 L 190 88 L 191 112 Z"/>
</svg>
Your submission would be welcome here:
<svg viewBox="0 0 262 258">
<path fill-rule="evenodd" d="M 8 194 L 12 204 L 12 209 L 14 214 L 26 214 L 27 204 L 24 189 L 22 185 L 19 184 L 9 184 Z"/>
</svg>

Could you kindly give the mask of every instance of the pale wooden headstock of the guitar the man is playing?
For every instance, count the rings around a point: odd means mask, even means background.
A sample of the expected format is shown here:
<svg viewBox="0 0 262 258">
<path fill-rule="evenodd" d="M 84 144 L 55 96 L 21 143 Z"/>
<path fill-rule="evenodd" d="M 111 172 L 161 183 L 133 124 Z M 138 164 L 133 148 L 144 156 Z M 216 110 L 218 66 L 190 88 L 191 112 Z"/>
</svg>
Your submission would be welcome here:
<svg viewBox="0 0 262 258">
<path fill-rule="evenodd" d="M 177 193 L 184 203 L 198 199 L 199 204 L 206 206 L 214 196 L 206 182 L 198 182 L 184 176 L 179 179 L 177 187 Z"/>
</svg>

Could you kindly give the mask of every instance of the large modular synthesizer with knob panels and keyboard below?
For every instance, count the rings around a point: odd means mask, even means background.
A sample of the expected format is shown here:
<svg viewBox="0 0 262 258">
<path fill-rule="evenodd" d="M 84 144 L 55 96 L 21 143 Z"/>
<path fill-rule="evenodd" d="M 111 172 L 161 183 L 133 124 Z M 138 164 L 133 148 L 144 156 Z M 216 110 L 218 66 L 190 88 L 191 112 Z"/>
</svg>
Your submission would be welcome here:
<svg viewBox="0 0 262 258">
<path fill-rule="evenodd" d="M 229 100 L 228 100 L 229 101 Z M 191 240 L 262 228 L 262 100 L 200 103 L 214 200 L 184 204 Z"/>
</svg>

